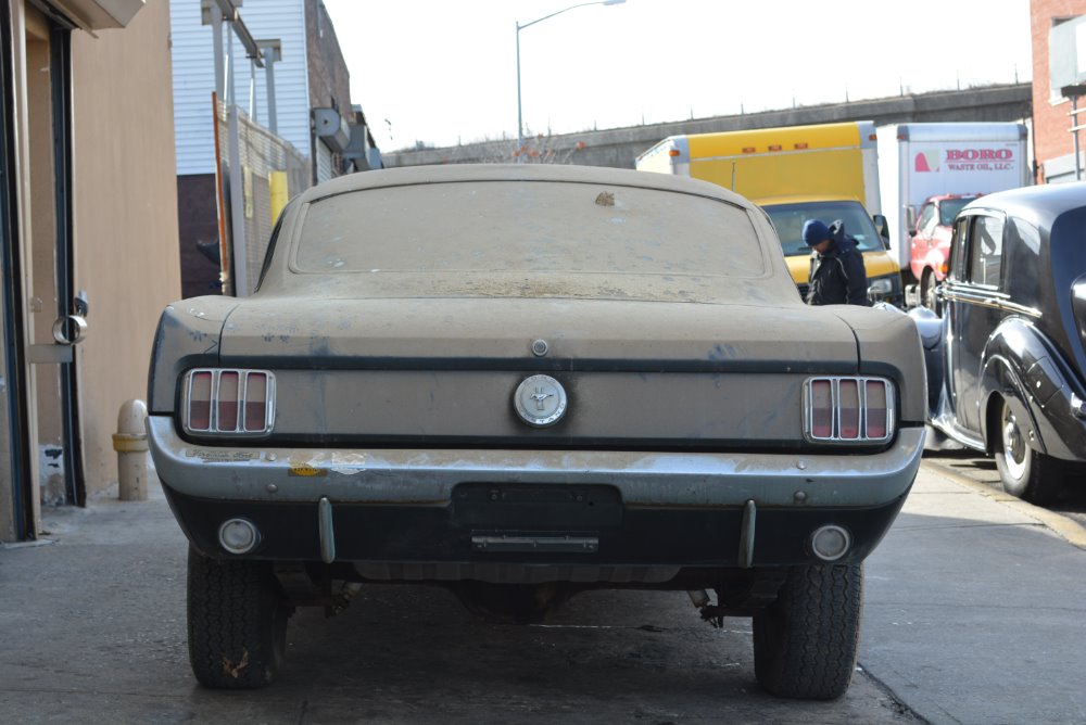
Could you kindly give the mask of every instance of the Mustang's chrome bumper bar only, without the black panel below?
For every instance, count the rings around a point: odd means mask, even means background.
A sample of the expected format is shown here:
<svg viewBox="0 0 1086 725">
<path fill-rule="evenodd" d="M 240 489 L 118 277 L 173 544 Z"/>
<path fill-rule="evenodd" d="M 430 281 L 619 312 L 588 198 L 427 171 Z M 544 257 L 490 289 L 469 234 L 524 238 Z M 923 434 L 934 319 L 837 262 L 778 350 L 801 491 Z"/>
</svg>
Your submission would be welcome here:
<svg viewBox="0 0 1086 725">
<path fill-rule="evenodd" d="M 924 429 L 900 429 L 864 454 L 659 453 L 209 446 L 182 440 L 168 416 L 149 416 L 148 444 L 164 485 L 203 498 L 337 506 L 449 506 L 472 483 L 605 484 L 627 506 L 876 506 L 909 489 Z M 801 494 L 801 495 L 798 495 Z M 801 503 L 800 503 L 801 501 Z"/>
</svg>

